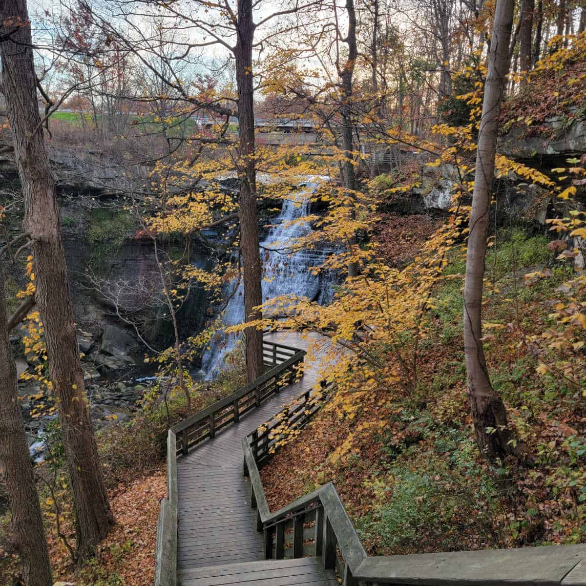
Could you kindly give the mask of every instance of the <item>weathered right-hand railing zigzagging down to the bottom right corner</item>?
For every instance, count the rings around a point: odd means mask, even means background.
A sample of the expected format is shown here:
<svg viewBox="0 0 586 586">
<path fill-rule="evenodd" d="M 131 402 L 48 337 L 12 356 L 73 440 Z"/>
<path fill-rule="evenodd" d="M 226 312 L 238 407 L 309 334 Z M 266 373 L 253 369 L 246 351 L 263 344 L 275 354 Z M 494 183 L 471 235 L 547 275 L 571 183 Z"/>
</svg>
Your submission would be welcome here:
<svg viewBox="0 0 586 586">
<path fill-rule="evenodd" d="M 253 432 L 242 445 L 267 560 L 321 557 L 322 567 L 335 570 L 344 586 L 586 586 L 586 545 L 369 557 L 331 482 L 271 513 L 259 472 L 267 461 L 259 438 Z"/>
</svg>

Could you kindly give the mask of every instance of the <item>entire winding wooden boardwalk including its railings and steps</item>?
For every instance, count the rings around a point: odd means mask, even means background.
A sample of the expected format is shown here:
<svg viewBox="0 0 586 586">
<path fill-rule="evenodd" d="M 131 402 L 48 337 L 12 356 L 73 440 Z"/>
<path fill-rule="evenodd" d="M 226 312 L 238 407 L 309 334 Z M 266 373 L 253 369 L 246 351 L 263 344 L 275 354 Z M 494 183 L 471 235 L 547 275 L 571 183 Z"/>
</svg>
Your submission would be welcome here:
<svg viewBox="0 0 586 586">
<path fill-rule="evenodd" d="M 260 469 L 321 407 L 331 348 L 296 332 L 263 347 L 267 372 L 169 430 L 155 586 L 586 586 L 586 545 L 369 557 L 332 483 L 271 512 Z"/>
</svg>

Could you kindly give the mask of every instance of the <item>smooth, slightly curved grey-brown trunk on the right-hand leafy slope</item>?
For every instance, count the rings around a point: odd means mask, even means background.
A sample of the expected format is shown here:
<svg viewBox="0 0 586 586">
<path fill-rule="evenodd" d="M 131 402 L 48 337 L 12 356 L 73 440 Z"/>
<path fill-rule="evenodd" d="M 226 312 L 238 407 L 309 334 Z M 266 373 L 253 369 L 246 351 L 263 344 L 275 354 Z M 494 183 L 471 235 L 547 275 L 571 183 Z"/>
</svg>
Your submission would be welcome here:
<svg viewBox="0 0 586 586">
<path fill-rule="evenodd" d="M 468 397 L 476 441 L 482 454 L 490 461 L 513 451 L 509 445 L 510 434 L 507 431 L 505 405 L 490 383 L 482 346 L 482 285 L 485 273 L 486 236 L 495 172 L 496 131 L 509 66 L 513 6 L 514 0 L 498 0 L 496 4 L 478 136 L 464 285 L 464 350 Z"/>
</svg>

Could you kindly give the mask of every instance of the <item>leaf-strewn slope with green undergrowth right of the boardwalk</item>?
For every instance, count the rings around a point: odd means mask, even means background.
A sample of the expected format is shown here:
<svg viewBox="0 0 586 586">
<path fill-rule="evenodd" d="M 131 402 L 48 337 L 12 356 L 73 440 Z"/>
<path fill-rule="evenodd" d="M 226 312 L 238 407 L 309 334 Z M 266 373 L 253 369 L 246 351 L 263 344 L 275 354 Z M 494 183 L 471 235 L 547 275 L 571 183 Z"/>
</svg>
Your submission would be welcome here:
<svg viewBox="0 0 586 586">
<path fill-rule="evenodd" d="M 394 226 L 391 217 L 381 227 L 383 240 L 397 237 Z M 421 230 L 427 232 L 427 220 Z M 544 231 L 503 230 L 486 263 L 489 372 L 523 444 L 522 459 L 489 466 L 476 447 L 466 397 L 462 280 L 457 278 L 435 291 L 428 335 L 419 342 L 417 387 L 411 393 L 338 387 L 263 469 L 271 510 L 331 481 L 370 554 L 584 541 L 582 388 L 540 371 L 535 348 L 527 342 L 554 323 L 552 306 L 564 297 L 559 287 L 573 275 L 572 268 L 554 260 L 549 240 Z M 413 242 L 400 250 L 412 247 Z M 392 254 L 395 247 L 386 248 Z M 544 267 L 548 278 L 532 277 Z M 445 274 L 463 277 L 460 250 Z M 380 352 L 388 363 L 396 362 L 388 345 Z M 359 408 L 349 416 L 336 405 L 350 393 L 348 401 L 358 401 Z"/>
</svg>

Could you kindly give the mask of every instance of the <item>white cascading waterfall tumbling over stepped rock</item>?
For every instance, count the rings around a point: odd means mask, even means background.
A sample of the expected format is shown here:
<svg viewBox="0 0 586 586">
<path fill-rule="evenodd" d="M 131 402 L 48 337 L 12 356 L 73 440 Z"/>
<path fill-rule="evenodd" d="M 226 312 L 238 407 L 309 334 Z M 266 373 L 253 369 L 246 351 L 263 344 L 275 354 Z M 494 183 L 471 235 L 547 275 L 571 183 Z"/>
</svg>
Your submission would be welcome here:
<svg viewBox="0 0 586 586">
<path fill-rule="evenodd" d="M 326 275 L 314 275 L 309 271 L 309 267 L 319 267 L 329 251 L 288 250 L 292 241 L 311 232 L 311 226 L 301 218 L 308 215 L 311 194 L 318 185 L 319 179 L 311 178 L 298 193 L 283 200 L 281 214 L 261 242 L 261 259 L 264 260 L 263 301 L 280 295 L 292 295 L 324 304 L 331 298 L 332 280 Z M 235 282 L 231 283 L 229 290 L 232 291 L 235 286 Z M 222 322 L 224 326 L 231 326 L 243 320 L 244 285 L 240 283 L 223 312 Z M 222 370 L 226 355 L 237 343 L 238 338 L 234 335 L 217 335 L 212 340 L 202 358 L 206 379 L 212 379 Z"/>
</svg>

